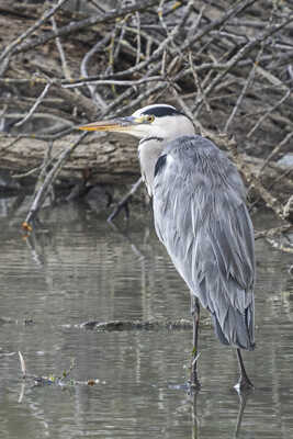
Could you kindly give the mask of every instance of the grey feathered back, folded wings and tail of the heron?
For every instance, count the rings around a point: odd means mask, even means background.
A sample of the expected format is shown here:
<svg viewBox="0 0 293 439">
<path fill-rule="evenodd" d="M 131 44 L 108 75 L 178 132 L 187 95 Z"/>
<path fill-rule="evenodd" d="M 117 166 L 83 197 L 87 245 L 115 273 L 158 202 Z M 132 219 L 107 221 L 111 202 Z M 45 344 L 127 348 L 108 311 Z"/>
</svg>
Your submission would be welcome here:
<svg viewBox="0 0 293 439">
<path fill-rule="evenodd" d="M 253 230 L 227 156 L 201 136 L 164 148 L 153 182 L 156 232 L 226 345 L 253 349 Z"/>
</svg>

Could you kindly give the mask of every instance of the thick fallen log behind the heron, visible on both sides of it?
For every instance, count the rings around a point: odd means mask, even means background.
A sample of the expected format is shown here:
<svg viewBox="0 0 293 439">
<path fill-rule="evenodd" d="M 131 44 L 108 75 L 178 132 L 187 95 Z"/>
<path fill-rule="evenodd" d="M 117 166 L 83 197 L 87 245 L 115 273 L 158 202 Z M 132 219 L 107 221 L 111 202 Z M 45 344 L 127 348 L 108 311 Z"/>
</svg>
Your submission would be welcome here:
<svg viewBox="0 0 293 439">
<path fill-rule="evenodd" d="M 217 138 L 219 139 L 217 142 Z M 52 157 L 57 157 L 77 140 L 77 135 L 68 135 L 53 144 Z M 225 148 L 221 137 L 213 136 L 213 140 Z M 10 176 L 20 180 L 27 173 L 37 177 L 40 167 L 48 148 L 48 142 L 37 138 L 10 138 L 0 136 L 0 169 L 10 170 Z M 258 176 L 264 160 L 245 154 L 239 155 L 241 160 L 249 165 L 251 172 Z M 59 179 L 82 181 L 84 171 L 89 171 L 89 181 L 92 184 L 133 183 L 140 175 L 137 160 L 137 140 L 132 137 L 111 133 L 87 137 L 71 154 L 63 166 Z M 293 193 L 293 172 L 283 166 L 271 161 L 261 172 L 264 187 L 272 185 L 272 192 L 278 193 L 281 200 Z"/>
</svg>

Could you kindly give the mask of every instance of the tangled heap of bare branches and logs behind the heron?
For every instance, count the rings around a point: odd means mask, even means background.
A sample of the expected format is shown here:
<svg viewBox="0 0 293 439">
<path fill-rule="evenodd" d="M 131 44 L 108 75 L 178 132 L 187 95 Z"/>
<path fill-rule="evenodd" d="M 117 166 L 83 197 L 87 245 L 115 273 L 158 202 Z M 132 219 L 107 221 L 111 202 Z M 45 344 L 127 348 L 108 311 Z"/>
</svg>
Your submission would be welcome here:
<svg viewBox="0 0 293 439">
<path fill-rule="evenodd" d="M 151 102 L 184 111 L 292 222 L 292 170 L 275 164 L 292 150 L 292 5 L 104 3 L 0 0 L 0 169 L 37 181 L 29 223 L 60 180 L 136 181 L 134 140 L 74 128 Z"/>
</svg>

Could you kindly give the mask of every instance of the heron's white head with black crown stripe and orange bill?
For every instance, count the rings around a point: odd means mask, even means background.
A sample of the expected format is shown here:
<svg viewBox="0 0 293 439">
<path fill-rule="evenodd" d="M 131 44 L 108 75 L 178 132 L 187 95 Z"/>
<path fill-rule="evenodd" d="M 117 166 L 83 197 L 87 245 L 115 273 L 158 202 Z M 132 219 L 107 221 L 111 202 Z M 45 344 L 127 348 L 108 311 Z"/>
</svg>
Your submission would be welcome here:
<svg viewBox="0 0 293 439">
<path fill-rule="evenodd" d="M 79 130 L 131 134 L 138 138 L 173 139 L 194 134 L 192 121 L 176 108 L 153 104 L 135 111 L 131 116 L 81 125 Z"/>
</svg>

